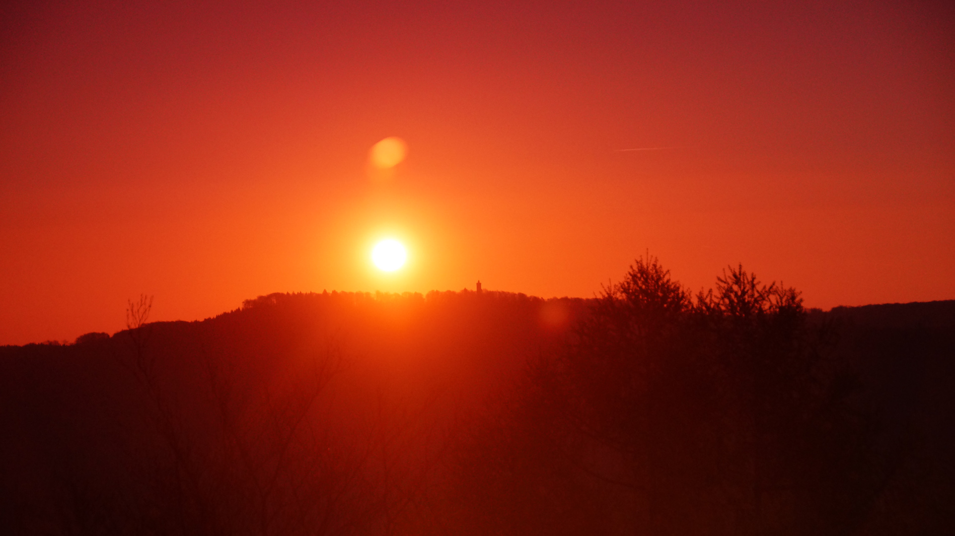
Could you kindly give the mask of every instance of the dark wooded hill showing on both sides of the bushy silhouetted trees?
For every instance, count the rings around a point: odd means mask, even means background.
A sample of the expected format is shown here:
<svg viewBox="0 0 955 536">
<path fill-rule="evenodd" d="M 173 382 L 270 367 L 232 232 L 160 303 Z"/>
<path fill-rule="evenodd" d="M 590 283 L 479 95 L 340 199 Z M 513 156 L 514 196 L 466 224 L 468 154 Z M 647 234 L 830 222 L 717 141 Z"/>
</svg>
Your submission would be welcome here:
<svg viewBox="0 0 955 536">
<path fill-rule="evenodd" d="M 458 438 L 495 423 L 483 417 L 515 400 L 527 362 L 562 348 L 590 303 L 271 295 L 214 319 L 0 347 L 0 528 L 461 533 L 500 512 L 448 502 L 455 467 L 481 475 L 475 460 L 508 453 L 476 458 Z M 856 530 L 953 526 L 955 301 L 810 317 L 834 335 L 828 359 L 858 372 L 845 388 L 891 465 Z M 478 496 L 494 492 L 479 482 Z"/>
</svg>

